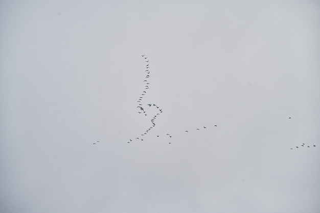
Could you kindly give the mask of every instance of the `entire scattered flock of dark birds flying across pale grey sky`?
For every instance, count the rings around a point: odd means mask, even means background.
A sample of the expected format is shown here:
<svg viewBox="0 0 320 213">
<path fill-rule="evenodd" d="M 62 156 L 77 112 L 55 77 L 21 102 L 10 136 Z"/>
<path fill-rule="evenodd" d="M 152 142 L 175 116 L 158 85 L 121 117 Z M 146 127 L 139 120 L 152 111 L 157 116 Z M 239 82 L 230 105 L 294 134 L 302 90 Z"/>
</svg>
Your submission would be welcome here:
<svg viewBox="0 0 320 213">
<path fill-rule="evenodd" d="M 146 135 L 148 135 L 149 134 L 149 132 L 153 129 L 153 128 L 155 128 L 155 125 L 156 125 L 156 123 L 155 123 L 155 120 L 156 120 L 156 118 L 157 118 L 157 116 L 160 116 L 161 115 L 161 113 L 163 113 L 163 111 L 162 111 L 162 109 L 161 109 L 161 107 L 159 107 L 159 105 L 157 105 L 157 104 L 154 104 L 154 103 L 148 103 L 148 104 L 143 104 L 143 99 L 144 99 L 144 97 L 145 97 L 145 95 L 147 95 L 147 92 L 148 92 L 148 90 L 150 89 L 150 83 L 148 82 L 148 79 L 150 78 L 150 74 L 151 74 L 151 71 L 149 70 L 150 69 L 150 65 L 149 65 L 149 59 L 148 59 L 148 57 L 146 57 L 146 55 L 142 55 L 142 57 L 144 58 L 144 60 L 145 60 L 145 62 L 146 62 L 146 67 L 145 67 L 145 78 L 144 78 L 144 81 L 143 81 L 143 83 L 145 84 L 145 86 L 144 86 L 144 90 L 143 90 L 143 92 L 141 93 L 141 95 L 140 95 L 140 97 L 138 98 L 138 100 L 136 101 L 137 102 L 137 109 L 138 109 L 138 113 L 139 114 L 141 114 L 141 115 L 143 115 L 143 116 L 147 116 L 148 114 L 148 109 L 150 109 L 150 108 L 154 108 L 156 111 L 156 113 L 154 113 L 154 115 L 153 115 L 153 117 L 151 118 L 151 120 L 150 120 L 150 122 L 151 122 L 151 124 L 150 124 L 150 126 L 143 132 L 143 134 L 141 134 L 141 137 L 139 136 L 139 137 L 136 137 L 134 140 L 135 141 L 143 141 L 144 140 L 144 136 L 146 136 Z M 291 119 L 291 117 L 289 117 L 289 119 Z M 213 125 L 213 126 L 203 126 L 203 127 L 201 127 L 201 128 L 196 128 L 196 129 L 194 129 L 194 130 L 200 130 L 200 129 L 207 129 L 207 128 L 210 128 L 210 127 L 218 127 L 217 125 Z M 189 131 L 188 130 L 185 130 L 185 133 L 188 133 Z M 156 137 L 158 138 L 158 137 L 161 137 L 160 135 L 156 135 Z M 166 134 L 165 135 L 165 137 L 168 137 L 168 138 L 172 138 L 172 136 L 170 135 L 170 134 Z M 133 139 L 129 139 L 129 141 L 127 142 L 127 143 L 130 143 L 130 142 L 132 142 L 133 141 Z M 100 141 L 97 141 L 96 143 L 93 143 L 93 144 L 97 144 L 97 143 L 99 143 Z M 171 144 L 171 142 L 169 142 L 169 144 Z M 306 144 L 302 144 L 302 145 L 300 145 L 300 146 L 302 146 L 302 147 L 308 147 L 308 148 L 310 148 L 310 147 L 312 147 L 311 145 L 310 146 L 308 146 L 308 145 L 306 145 Z M 315 145 L 313 145 L 313 147 L 315 147 Z M 295 148 L 299 148 L 299 146 L 296 146 Z M 293 148 L 290 148 L 290 149 L 293 149 Z"/>
</svg>

